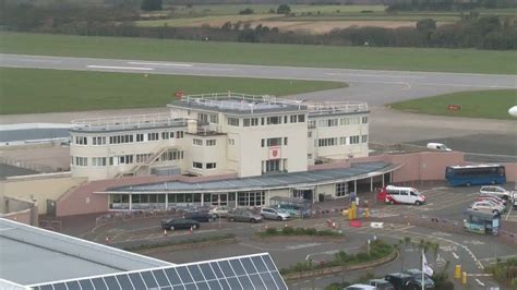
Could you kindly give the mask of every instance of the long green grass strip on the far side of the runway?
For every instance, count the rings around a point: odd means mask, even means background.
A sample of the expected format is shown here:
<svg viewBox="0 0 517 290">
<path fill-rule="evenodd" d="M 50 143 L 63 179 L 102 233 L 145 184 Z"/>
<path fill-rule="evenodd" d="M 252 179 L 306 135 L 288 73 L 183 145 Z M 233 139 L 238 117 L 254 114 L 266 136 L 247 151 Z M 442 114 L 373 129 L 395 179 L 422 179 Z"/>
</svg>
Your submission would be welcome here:
<svg viewBox="0 0 517 290">
<path fill-rule="evenodd" d="M 332 47 L 1 33 L 0 52 L 208 63 L 516 74 L 517 51 Z"/>
</svg>

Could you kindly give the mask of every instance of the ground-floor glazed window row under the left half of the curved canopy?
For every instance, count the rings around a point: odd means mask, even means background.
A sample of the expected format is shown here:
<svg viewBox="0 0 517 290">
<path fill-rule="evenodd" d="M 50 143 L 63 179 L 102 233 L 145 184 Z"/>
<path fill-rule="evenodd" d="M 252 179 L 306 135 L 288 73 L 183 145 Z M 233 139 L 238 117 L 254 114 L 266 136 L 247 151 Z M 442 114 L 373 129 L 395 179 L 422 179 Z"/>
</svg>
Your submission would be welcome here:
<svg viewBox="0 0 517 290">
<path fill-rule="evenodd" d="M 265 192 L 110 194 L 110 209 L 166 209 L 177 205 L 264 206 Z"/>
</svg>

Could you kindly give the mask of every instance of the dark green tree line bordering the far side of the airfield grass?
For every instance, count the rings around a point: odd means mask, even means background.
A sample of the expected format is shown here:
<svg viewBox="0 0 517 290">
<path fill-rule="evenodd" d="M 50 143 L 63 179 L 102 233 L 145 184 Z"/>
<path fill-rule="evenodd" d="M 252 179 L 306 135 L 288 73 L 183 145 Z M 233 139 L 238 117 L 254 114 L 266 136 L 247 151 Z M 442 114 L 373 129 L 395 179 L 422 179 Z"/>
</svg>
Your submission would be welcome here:
<svg viewBox="0 0 517 290">
<path fill-rule="evenodd" d="M 227 22 L 220 27 L 140 27 L 140 11 L 130 7 L 34 7 L 0 1 L 0 25 L 8 31 L 85 36 L 129 36 L 190 40 L 302 44 L 372 47 L 442 47 L 517 49 L 517 22 L 513 17 L 464 14 L 454 24 L 421 20 L 416 27 L 348 27 L 326 34 L 281 32 L 276 27 Z"/>
</svg>

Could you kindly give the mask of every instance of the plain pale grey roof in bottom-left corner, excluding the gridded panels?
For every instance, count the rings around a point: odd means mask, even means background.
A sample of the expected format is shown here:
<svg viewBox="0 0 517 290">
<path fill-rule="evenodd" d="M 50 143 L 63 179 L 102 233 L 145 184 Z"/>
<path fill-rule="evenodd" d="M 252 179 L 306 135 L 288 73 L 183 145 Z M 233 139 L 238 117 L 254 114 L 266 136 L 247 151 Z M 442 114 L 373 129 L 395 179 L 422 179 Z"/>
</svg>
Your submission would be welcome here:
<svg viewBox="0 0 517 290">
<path fill-rule="evenodd" d="M 0 218 L 0 279 L 20 285 L 173 265 Z"/>
</svg>

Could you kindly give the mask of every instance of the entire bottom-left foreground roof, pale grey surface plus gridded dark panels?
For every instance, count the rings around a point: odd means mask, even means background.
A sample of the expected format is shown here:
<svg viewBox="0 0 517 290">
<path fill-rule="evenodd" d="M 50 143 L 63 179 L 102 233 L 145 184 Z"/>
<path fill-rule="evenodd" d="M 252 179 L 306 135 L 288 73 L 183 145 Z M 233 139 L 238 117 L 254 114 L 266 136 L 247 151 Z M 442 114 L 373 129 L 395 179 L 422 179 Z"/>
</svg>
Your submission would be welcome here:
<svg viewBox="0 0 517 290">
<path fill-rule="evenodd" d="M 187 264 L 0 219 L 1 289 L 287 290 L 267 253 Z"/>
</svg>

